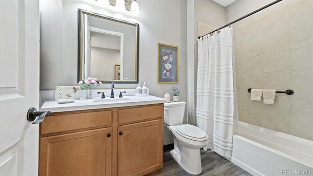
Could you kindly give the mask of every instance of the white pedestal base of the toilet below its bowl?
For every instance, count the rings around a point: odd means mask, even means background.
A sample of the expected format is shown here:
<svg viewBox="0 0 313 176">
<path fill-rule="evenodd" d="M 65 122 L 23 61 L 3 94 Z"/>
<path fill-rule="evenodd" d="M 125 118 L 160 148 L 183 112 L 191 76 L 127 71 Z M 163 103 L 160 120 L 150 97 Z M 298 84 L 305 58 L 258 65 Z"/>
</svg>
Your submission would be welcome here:
<svg viewBox="0 0 313 176">
<path fill-rule="evenodd" d="M 181 151 L 171 150 L 170 154 L 187 173 L 199 175 L 202 172 L 200 149 L 189 149 L 181 146 Z"/>
</svg>

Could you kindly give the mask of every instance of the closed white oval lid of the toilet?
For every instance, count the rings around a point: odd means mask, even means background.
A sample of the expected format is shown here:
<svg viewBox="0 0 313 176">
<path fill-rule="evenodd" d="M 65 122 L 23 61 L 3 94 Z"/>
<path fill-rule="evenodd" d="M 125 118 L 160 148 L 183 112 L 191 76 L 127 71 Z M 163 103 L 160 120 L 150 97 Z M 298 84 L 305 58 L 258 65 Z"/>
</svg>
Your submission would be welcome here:
<svg viewBox="0 0 313 176">
<path fill-rule="evenodd" d="M 176 127 L 176 132 L 182 137 L 191 140 L 205 141 L 207 139 L 207 135 L 203 130 L 189 124 Z"/>
</svg>

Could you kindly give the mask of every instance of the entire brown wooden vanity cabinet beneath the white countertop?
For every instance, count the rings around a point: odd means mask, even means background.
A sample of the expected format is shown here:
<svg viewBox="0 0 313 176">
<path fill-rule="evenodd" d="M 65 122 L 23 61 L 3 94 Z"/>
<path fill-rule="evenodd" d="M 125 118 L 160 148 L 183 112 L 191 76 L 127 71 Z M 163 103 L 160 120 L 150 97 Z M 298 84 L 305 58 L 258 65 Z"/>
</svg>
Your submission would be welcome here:
<svg viewBox="0 0 313 176">
<path fill-rule="evenodd" d="M 163 104 L 55 112 L 40 124 L 39 176 L 143 176 L 163 167 Z"/>
</svg>

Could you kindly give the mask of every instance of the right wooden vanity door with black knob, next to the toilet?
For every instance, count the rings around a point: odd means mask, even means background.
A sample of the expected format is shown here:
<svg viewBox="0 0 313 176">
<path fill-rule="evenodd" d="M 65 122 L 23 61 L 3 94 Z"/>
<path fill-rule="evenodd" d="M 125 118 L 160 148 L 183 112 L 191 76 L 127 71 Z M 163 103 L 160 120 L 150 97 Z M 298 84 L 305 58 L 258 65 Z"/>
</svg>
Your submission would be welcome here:
<svg viewBox="0 0 313 176">
<path fill-rule="evenodd" d="M 143 176 L 163 167 L 162 119 L 118 127 L 118 176 Z"/>
</svg>

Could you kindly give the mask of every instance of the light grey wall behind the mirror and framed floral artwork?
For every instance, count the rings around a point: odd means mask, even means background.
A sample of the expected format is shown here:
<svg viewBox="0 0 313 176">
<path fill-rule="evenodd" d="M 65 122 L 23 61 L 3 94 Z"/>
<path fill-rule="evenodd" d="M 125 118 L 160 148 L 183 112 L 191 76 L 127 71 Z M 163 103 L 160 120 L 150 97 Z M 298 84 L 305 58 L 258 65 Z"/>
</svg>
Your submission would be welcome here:
<svg viewBox="0 0 313 176">
<path fill-rule="evenodd" d="M 59 5 L 58 1 L 61 5 Z M 137 0 L 140 15 L 130 16 L 100 6 L 95 0 L 40 0 L 40 89 L 77 85 L 78 8 L 139 23 L 139 82 L 149 93 L 163 97 L 179 87 L 180 100 L 187 100 L 186 0 Z M 157 44 L 179 46 L 179 83 L 157 83 Z M 136 88 L 116 84 L 115 88 Z M 109 84 L 98 88 L 111 88 Z M 185 115 L 186 116 L 186 115 Z M 186 121 L 186 119 L 185 119 Z"/>
</svg>

